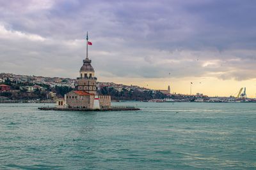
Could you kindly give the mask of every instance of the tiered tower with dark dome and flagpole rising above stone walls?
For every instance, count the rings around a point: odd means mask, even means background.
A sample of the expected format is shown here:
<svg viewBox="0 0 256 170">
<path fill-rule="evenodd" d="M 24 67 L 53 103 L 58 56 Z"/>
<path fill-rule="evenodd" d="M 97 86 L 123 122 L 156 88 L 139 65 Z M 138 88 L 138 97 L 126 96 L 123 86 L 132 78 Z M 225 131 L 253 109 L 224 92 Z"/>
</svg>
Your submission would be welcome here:
<svg viewBox="0 0 256 170">
<path fill-rule="evenodd" d="M 77 77 L 77 90 L 84 90 L 90 94 L 96 94 L 96 81 L 94 69 L 91 65 L 92 60 L 88 57 L 88 32 L 86 35 L 86 58 L 83 60 L 83 66 Z"/>
</svg>

